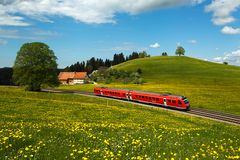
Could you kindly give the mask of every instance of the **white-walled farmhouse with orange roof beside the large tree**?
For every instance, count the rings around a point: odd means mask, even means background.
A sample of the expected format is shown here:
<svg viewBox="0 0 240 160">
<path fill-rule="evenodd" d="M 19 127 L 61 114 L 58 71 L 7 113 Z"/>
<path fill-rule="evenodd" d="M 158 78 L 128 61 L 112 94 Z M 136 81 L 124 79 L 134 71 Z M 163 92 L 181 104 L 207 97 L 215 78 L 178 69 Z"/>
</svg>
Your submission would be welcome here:
<svg viewBox="0 0 240 160">
<path fill-rule="evenodd" d="M 87 72 L 60 72 L 58 79 L 62 84 L 83 84 L 87 80 Z"/>
</svg>

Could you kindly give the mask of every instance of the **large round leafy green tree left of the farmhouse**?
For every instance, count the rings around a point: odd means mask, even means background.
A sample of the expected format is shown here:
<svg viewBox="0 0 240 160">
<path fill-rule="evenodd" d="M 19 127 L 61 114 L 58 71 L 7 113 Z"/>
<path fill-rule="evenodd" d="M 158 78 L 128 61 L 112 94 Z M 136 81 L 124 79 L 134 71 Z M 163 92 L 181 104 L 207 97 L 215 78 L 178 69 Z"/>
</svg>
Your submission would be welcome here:
<svg viewBox="0 0 240 160">
<path fill-rule="evenodd" d="M 40 91 L 43 86 L 57 86 L 56 60 L 48 45 L 41 42 L 25 43 L 17 53 L 13 80 L 29 91 Z"/>
</svg>

